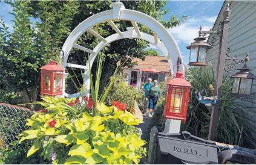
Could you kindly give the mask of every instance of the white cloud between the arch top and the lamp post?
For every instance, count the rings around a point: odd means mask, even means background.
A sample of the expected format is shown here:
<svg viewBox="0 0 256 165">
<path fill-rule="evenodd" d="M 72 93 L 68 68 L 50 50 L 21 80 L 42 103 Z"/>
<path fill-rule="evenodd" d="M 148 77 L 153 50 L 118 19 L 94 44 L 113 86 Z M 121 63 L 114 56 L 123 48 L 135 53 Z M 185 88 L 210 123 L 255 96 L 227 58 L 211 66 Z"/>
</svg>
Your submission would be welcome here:
<svg viewBox="0 0 256 165">
<path fill-rule="evenodd" d="M 213 17 L 192 17 L 182 23 L 182 25 L 170 28 L 169 31 L 174 36 L 177 43 L 191 44 L 194 38 L 198 37 L 199 27 L 202 25 L 203 31 L 209 31 L 214 25 L 217 16 Z"/>
</svg>

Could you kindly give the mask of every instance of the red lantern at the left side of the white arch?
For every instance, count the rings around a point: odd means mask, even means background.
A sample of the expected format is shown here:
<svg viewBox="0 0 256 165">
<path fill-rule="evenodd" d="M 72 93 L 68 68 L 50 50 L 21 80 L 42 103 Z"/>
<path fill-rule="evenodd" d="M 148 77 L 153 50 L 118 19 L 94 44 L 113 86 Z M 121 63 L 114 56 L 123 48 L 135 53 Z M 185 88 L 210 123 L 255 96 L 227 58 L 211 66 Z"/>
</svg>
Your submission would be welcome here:
<svg viewBox="0 0 256 165">
<path fill-rule="evenodd" d="M 41 68 L 41 95 L 57 96 L 62 95 L 62 82 L 64 68 L 57 65 L 56 61 Z"/>
</svg>

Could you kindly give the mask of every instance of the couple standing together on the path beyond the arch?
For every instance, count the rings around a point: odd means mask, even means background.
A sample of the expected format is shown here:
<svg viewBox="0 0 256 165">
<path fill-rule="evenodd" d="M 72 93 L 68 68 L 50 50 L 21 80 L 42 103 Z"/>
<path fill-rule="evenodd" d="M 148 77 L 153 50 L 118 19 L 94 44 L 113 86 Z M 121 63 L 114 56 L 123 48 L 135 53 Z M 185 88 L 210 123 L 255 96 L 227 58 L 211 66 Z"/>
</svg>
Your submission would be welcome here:
<svg viewBox="0 0 256 165">
<path fill-rule="evenodd" d="M 157 110 L 157 101 L 160 97 L 160 87 L 157 86 L 157 80 L 152 83 L 152 79 L 148 78 L 148 83 L 144 85 L 144 113 L 148 113 L 149 117 L 154 115 L 154 111 Z"/>
</svg>

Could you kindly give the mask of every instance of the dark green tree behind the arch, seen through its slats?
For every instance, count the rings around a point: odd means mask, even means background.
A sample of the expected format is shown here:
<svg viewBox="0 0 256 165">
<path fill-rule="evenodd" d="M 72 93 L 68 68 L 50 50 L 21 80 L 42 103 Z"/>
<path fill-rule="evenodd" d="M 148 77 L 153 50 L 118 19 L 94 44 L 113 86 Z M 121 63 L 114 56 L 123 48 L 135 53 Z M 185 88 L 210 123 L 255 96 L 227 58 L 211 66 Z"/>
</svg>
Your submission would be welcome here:
<svg viewBox="0 0 256 165">
<path fill-rule="evenodd" d="M 172 28 L 173 26 L 179 26 L 183 20 L 186 19 L 186 16 L 181 17 L 180 19 L 176 16 L 172 17 L 170 20 L 163 21 L 163 16 L 168 13 L 166 10 L 165 4 L 167 1 L 121 1 L 125 8 L 131 10 L 137 10 L 142 13 L 148 14 L 151 17 L 159 20 L 166 28 Z M 65 5 L 66 1 L 61 1 L 62 5 Z M 33 1 L 32 8 L 34 9 L 34 16 L 39 16 L 37 14 L 38 11 L 38 1 Z M 56 7 L 56 10 L 59 10 L 61 5 Z M 110 10 L 111 9 L 111 1 L 79 1 L 79 8 L 77 14 L 74 16 L 71 28 L 75 28 L 80 22 L 92 16 L 93 14 L 99 13 L 101 11 Z M 120 29 L 120 31 L 126 31 L 126 27 L 132 26 L 130 21 L 121 20 L 120 22 L 114 22 Z M 139 24 L 140 31 L 153 34 L 148 27 Z M 107 37 L 111 34 L 116 33 L 107 22 L 99 23 L 97 26 L 93 27 L 94 31 L 97 31 L 101 36 Z M 64 42 L 64 40 L 63 40 Z M 99 43 L 99 39 L 95 39 L 94 36 L 85 32 L 82 37 L 77 41 L 77 43 L 85 48 L 93 49 L 97 43 Z M 147 51 L 145 48 L 148 48 L 148 42 L 145 40 L 139 39 L 123 39 L 118 40 L 116 42 L 111 43 L 110 45 L 105 46 L 105 48 L 100 52 L 106 55 L 105 65 L 103 66 L 102 79 L 101 79 L 101 88 L 100 92 L 102 92 L 103 88 L 106 86 L 110 77 L 113 75 L 114 69 L 116 68 L 116 62 L 123 56 L 128 55 L 130 57 L 138 57 L 145 58 L 147 55 Z M 82 64 L 85 65 L 87 55 L 84 52 L 75 50 L 69 57 L 69 62 L 74 64 Z M 95 60 L 97 61 L 97 60 Z M 131 59 L 128 60 L 128 66 L 131 66 Z M 93 65 L 92 72 L 93 75 L 96 75 L 96 66 Z M 70 70 L 70 73 L 73 75 L 73 71 Z M 82 83 L 82 78 L 80 76 L 80 69 L 74 69 L 74 73 L 79 76 L 79 81 Z M 71 75 L 71 76 L 72 76 Z M 76 81 L 76 79 L 75 79 Z M 76 81 L 77 85 L 79 85 L 78 81 Z M 68 83 L 68 93 L 76 93 L 76 87 L 73 85 L 73 81 Z"/>
</svg>

